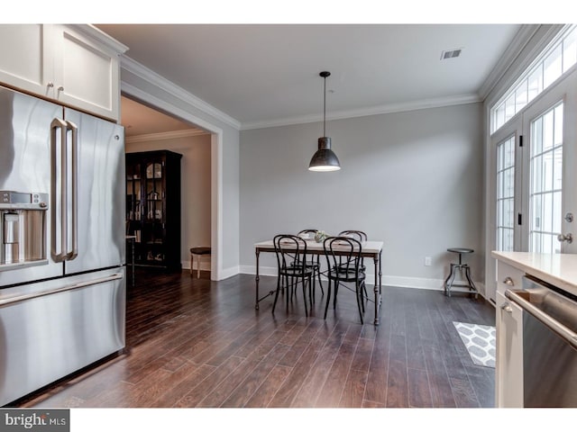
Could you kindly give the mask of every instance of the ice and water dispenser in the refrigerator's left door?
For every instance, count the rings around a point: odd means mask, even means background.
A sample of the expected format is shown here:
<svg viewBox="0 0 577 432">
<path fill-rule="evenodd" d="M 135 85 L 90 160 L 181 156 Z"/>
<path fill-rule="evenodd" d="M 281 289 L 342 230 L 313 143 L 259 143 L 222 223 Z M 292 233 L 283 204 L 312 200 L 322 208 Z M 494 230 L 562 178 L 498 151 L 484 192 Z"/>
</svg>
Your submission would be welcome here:
<svg viewBox="0 0 577 432">
<path fill-rule="evenodd" d="M 46 263 L 48 193 L 0 191 L 0 271 Z"/>
</svg>

